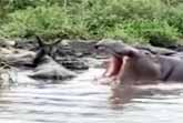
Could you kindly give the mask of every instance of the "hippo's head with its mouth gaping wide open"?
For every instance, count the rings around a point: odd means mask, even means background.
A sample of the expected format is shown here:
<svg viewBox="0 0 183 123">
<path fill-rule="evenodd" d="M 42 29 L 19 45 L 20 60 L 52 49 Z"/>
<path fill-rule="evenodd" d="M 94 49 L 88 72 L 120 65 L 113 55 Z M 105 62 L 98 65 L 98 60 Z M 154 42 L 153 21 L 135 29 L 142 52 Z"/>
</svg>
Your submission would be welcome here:
<svg viewBox="0 0 183 123">
<path fill-rule="evenodd" d="M 159 66 L 151 53 L 140 51 L 121 42 L 100 41 L 95 49 L 111 54 L 104 76 L 120 81 L 153 80 L 157 78 Z"/>
</svg>

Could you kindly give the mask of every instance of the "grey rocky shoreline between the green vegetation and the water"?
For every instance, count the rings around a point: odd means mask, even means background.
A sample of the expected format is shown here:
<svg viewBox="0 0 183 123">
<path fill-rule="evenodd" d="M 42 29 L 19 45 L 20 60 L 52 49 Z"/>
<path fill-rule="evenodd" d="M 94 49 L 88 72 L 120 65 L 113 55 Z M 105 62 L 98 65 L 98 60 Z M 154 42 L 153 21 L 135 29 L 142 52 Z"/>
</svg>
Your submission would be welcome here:
<svg viewBox="0 0 183 123">
<path fill-rule="evenodd" d="M 38 39 L 1 41 L 1 83 L 13 80 L 8 73 L 14 72 L 14 70 L 16 72 L 29 71 L 29 74 L 26 75 L 32 80 L 63 81 L 77 76 L 78 72 L 85 71 L 89 68 L 99 68 L 102 62 L 94 50 L 95 43 L 96 41 L 62 40 L 55 44 L 44 43 L 40 48 Z M 179 54 L 176 50 L 164 48 L 150 45 L 136 45 L 136 48 L 160 55 Z M 39 53 L 45 54 L 39 57 Z M 33 62 L 35 64 L 32 64 Z M 6 73 L 8 75 L 4 75 Z"/>
</svg>

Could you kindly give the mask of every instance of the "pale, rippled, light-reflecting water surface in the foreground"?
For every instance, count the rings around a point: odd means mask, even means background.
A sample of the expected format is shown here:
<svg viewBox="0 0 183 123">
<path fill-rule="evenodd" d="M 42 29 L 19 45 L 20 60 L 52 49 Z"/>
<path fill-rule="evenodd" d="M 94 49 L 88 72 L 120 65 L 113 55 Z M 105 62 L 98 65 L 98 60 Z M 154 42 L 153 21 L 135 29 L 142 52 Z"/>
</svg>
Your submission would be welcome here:
<svg viewBox="0 0 183 123">
<path fill-rule="evenodd" d="M 90 70 L 60 84 L 19 84 L 0 95 L 1 123 L 182 123 L 183 85 L 126 88 L 125 101 L 112 103 L 109 86 Z M 172 86 L 172 88 L 171 88 Z"/>
</svg>

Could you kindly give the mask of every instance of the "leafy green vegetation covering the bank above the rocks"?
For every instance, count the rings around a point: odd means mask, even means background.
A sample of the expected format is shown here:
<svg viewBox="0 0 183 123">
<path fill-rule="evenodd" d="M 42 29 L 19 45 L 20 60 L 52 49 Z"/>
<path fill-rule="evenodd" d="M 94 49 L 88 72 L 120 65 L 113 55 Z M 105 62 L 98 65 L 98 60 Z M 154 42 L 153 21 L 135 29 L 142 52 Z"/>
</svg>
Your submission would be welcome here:
<svg viewBox="0 0 183 123">
<path fill-rule="evenodd" d="M 114 38 L 174 43 L 183 37 L 182 0 L 2 0 L 0 35 Z"/>
</svg>

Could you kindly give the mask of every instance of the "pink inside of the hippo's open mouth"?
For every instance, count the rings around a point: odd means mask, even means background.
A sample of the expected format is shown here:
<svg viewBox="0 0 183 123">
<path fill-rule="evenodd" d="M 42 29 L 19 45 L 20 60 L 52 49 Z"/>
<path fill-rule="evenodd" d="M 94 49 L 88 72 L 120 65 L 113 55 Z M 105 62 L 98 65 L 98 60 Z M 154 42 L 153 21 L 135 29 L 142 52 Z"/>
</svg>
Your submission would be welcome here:
<svg viewBox="0 0 183 123">
<path fill-rule="evenodd" d="M 123 58 L 118 58 L 115 55 L 111 57 L 108 64 L 106 70 L 103 73 L 106 78 L 122 75 L 120 71 L 123 70 Z"/>
</svg>

